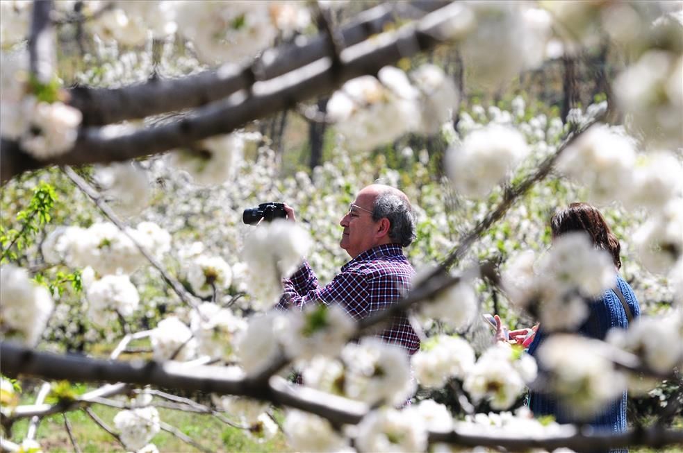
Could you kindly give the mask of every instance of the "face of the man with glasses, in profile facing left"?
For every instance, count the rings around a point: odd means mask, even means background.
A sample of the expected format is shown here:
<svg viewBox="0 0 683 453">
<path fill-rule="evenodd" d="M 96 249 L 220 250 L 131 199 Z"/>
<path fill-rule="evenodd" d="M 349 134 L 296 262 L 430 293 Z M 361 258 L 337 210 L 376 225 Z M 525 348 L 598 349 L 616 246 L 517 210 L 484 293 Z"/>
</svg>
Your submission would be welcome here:
<svg viewBox="0 0 683 453">
<path fill-rule="evenodd" d="M 355 258 L 360 253 L 377 245 L 377 223 L 372 221 L 372 206 L 377 194 L 359 192 L 351 209 L 339 222 L 344 227 L 339 246 Z"/>
</svg>

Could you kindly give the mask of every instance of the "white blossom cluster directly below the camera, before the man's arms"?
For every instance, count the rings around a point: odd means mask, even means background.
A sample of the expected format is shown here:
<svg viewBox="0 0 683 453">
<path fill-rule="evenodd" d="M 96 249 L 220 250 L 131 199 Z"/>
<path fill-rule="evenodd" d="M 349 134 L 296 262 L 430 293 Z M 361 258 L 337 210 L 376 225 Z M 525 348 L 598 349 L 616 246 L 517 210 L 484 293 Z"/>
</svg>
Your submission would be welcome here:
<svg viewBox="0 0 683 453">
<path fill-rule="evenodd" d="M 297 270 L 310 246 L 308 233 L 283 219 L 259 225 L 247 236 L 242 259 L 249 266 L 249 288 L 261 300 L 255 309 L 272 307 L 282 293 L 282 278 Z M 254 303 L 258 304 L 258 300 Z"/>
</svg>

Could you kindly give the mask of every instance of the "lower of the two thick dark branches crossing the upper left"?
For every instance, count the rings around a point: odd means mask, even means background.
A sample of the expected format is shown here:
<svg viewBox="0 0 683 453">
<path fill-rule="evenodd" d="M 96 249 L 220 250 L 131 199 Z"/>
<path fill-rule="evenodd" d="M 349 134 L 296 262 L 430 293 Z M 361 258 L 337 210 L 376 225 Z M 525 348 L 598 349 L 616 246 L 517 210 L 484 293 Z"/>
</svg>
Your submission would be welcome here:
<svg viewBox="0 0 683 453">
<path fill-rule="evenodd" d="M 217 101 L 176 123 L 133 133 L 109 137 L 102 130 L 85 128 L 71 151 L 42 162 L 49 164 L 80 165 L 97 162 L 116 162 L 135 157 L 164 153 L 172 148 L 188 146 L 213 135 L 230 133 L 249 121 L 285 110 L 296 103 L 327 94 L 347 80 L 365 74 L 375 74 L 381 67 L 401 58 L 431 49 L 449 39 L 448 24 L 463 14 L 464 7 L 453 3 L 436 10 L 417 24 L 405 26 L 397 33 L 384 33 L 375 40 L 362 42 L 345 49 L 340 55 L 342 64 L 335 70 L 331 58 L 322 58 L 288 74 L 257 82 L 247 95 L 238 92 L 224 101 Z M 1 181 L 6 182 L 22 171 L 35 169 L 35 160 L 20 160 L 22 153 L 16 142 L 3 140 L 0 149 Z"/>
</svg>

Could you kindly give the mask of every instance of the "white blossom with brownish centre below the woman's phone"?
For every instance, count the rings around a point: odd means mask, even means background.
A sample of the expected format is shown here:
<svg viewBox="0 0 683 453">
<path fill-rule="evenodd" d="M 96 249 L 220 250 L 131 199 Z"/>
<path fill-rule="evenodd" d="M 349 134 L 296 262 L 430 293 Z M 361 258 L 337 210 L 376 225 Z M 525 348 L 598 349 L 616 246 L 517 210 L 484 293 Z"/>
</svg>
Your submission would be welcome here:
<svg viewBox="0 0 683 453">
<path fill-rule="evenodd" d="M 488 348 L 470 373 L 466 375 L 463 388 L 475 400 L 488 398 L 493 409 L 507 409 L 517 400 L 525 388 L 520 368 L 514 364 L 515 353 L 507 343 L 497 343 Z M 535 373 L 524 373 L 536 377 Z"/>
</svg>

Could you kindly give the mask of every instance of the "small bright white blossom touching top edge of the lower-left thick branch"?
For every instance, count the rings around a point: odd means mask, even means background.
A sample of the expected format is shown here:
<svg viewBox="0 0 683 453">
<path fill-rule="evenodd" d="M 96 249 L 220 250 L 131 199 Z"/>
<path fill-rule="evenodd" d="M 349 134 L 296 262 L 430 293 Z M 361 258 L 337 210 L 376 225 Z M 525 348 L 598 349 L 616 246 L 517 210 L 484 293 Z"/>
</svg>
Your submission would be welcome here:
<svg viewBox="0 0 683 453">
<path fill-rule="evenodd" d="M 149 335 L 152 356 L 156 361 L 186 361 L 195 357 L 197 340 L 177 316 L 168 316 L 159 321 Z M 175 356 L 175 357 L 174 357 Z"/>
</svg>

